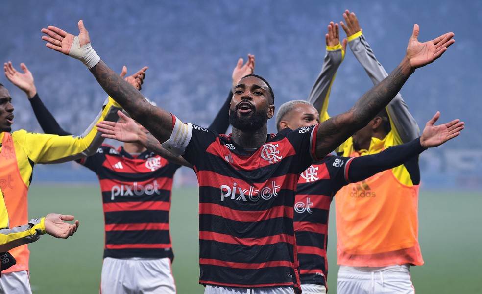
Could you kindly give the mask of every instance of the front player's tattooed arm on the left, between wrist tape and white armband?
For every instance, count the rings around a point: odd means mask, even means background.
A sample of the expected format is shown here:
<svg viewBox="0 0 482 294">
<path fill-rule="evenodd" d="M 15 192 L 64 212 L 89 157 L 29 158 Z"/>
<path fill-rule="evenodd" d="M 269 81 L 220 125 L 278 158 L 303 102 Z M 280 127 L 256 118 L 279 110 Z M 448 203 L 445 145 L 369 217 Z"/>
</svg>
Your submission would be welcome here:
<svg viewBox="0 0 482 294">
<path fill-rule="evenodd" d="M 172 117 L 163 109 L 152 106 L 144 96 L 102 60 L 91 70 L 104 91 L 125 109 L 131 117 L 142 124 L 158 140 L 169 139 Z"/>
</svg>

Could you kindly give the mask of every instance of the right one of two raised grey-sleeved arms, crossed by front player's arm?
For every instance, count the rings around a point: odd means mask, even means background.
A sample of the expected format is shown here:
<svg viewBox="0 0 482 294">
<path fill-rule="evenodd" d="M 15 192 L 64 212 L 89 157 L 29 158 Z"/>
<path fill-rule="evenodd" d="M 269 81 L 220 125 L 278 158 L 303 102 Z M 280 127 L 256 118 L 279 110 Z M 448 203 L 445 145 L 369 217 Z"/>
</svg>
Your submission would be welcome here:
<svg viewBox="0 0 482 294">
<path fill-rule="evenodd" d="M 386 73 L 370 45 L 366 42 L 355 13 L 346 10 L 343 13 L 343 18 L 345 23 L 340 22 L 340 24 L 346 33 L 350 49 L 365 69 L 373 84 L 378 84 L 388 73 Z M 397 93 L 395 98 L 386 106 L 386 110 L 390 117 L 395 138 L 397 141 L 401 141 L 398 142 L 399 144 L 409 142 L 419 136 L 420 129 L 418 124 L 410 114 L 409 108 L 400 93 Z"/>
</svg>

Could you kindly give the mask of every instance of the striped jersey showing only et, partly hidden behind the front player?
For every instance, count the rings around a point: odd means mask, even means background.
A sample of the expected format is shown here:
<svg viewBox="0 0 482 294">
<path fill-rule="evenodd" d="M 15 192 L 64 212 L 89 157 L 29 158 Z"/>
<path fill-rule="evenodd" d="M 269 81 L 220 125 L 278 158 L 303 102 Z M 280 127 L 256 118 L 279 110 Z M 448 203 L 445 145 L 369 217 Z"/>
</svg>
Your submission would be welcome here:
<svg viewBox="0 0 482 294">
<path fill-rule="evenodd" d="M 294 205 L 294 230 L 300 262 L 301 284 L 326 286 L 328 216 L 335 193 L 348 182 L 349 158 L 327 155 L 313 162 L 298 180 Z"/>
</svg>

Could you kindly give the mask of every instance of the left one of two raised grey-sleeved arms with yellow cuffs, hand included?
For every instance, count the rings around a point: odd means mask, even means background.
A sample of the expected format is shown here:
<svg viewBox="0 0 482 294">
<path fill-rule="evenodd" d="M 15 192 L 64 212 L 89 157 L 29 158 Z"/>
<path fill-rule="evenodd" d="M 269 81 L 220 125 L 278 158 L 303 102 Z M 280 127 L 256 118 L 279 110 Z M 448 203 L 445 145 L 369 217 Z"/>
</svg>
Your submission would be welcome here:
<svg viewBox="0 0 482 294">
<path fill-rule="evenodd" d="M 326 121 L 328 116 L 328 97 L 335 81 L 338 67 L 345 58 L 346 39 L 340 43 L 339 26 L 333 22 L 328 25 L 326 39 L 326 54 L 321 68 L 321 73 L 316 78 L 313 88 L 308 96 L 308 102 L 312 103 L 320 113 L 320 121 Z"/>
</svg>

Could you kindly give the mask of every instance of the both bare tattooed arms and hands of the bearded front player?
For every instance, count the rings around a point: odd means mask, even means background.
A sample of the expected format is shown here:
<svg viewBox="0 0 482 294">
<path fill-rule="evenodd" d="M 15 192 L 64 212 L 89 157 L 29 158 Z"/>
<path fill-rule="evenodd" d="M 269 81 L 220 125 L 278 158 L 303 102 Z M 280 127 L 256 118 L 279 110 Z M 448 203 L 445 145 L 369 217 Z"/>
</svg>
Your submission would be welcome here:
<svg viewBox="0 0 482 294">
<path fill-rule="evenodd" d="M 90 45 L 89 33 L 82 20 L 78 23 L 78 37 L 66 31 L 48 26 L 42 29 L 47 36 L 47 47 L 80 59 L 96 77 L 101 87 L 160 142 L 169 139 L 173 117 L 167 111 L 148 103 L 134 87 L 113 72 Z M 432 41 L 418 42 L 419 27 L 413 33 L 402 62 L 383 81 L 365 93 L 347 112 L 339 114 L 317 126 L 315 155 L 324 157 L 361 129 L 395 97 L 409 76 L 419 67 L 432 63 L 455 41 L 453 33 L 446 33 Z"/>
</svg>

